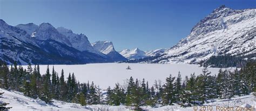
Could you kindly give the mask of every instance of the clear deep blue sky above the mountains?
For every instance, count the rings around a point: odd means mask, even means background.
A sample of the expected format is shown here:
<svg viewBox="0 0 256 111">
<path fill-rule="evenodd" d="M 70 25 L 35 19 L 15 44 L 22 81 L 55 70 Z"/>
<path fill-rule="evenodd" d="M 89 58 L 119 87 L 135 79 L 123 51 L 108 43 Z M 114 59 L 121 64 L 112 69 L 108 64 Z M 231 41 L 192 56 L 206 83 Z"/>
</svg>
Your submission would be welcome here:
<svg viewBox="0 0 256 111">
<path fill-rule="evenodd" d="M 170 48 L 218 6 L 256 8 L 256 0 L 0 0 L 10 25 L 50 23 L 85 34 L 90 42 L 112 41 L 116 50 Z"/>
</svg>

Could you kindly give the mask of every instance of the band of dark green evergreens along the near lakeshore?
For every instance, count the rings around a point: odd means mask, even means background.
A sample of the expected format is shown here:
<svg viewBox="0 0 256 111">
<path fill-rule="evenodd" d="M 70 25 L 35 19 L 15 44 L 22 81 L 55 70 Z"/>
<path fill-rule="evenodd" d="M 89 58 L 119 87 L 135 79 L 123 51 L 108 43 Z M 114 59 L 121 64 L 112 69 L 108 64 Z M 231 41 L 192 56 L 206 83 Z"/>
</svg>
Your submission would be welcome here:
<svg viewBox="0 0 256 111">
<path fill-rule="evenodd" d="M 200 75 L 192 73 L 190 77 L 181 78 L 170 75 L 165 82 L 155 81 L 153 86 L 143 79 L 128 79 L 127 85 L 117 83 L 113 88 L 103 92 L 93 82 L 79 83 L 74 73 L 60 76 L 54 66 L 50 73 L 49 65 L 46 73 L 41 75 L 39 65 L 29 64 L 24 69 L 15 63 L 10 68 L 6 63 L 0 64 L 1 88 L 23 92 L 31 98 L 40 98 L 46 103 L 53 99 L 81 105 L 126 105 L 131 109 L 140 110 L 141 106 L 165 106 L 178 103 L 183 107 L 203 105 L 211 99 L 230 99 L 234 95 L 246 95 L 256 92 L 256 63 L 247 63 L 241 70 L 227 71 L 220 69 L 218 75 L 204 68 Z"/>
</svg>

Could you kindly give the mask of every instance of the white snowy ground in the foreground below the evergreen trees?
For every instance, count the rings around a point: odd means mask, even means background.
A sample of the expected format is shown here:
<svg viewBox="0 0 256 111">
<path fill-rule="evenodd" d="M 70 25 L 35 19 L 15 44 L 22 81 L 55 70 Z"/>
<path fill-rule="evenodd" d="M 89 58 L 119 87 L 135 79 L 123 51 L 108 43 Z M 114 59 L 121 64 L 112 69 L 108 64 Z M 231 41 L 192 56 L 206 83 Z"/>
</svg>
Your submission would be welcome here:
<svg viewBox="0 0 256 111">
<path fill-rule="evenodd" d="M 12 107 L 10 110 L 61 110 L 61 111 L 68 111 L 68 110 L 111 110 L 111 111 L 125 111 L 129 110 L 125 106 L 109 106 L 109 105 L 89 105 L 89 106 L 81 106 L 78 103 L 67 103 L 63 101 L 53 100 L 52 104 L 46 104 L 44 101 L 40 99 L 32 99 L 25 97 L 22 93 L 19 92 L 12 92 L 6 91 L 0 88 L 0 92 L 4 92 L 3 98 L 1 101 L 10 103 L 7 105 L 8 107 Z M 245 107 L 245 106 L 256 106 L 256 98 L 253 95 L 245 95 L 242 97 L 231 98 L 230 100 L 213 100 L 214 102 L 210 102 L 205 104 L 212 106 L 213 110 L 216 110 L 216 106 L 230 106 L 230 107 Z M 200 106 L 198 106 L 199 110 Z M 158 108 L 152 107 L 143 107 L 143 109 L 147 110 L 179 110 L 179 111 L 187 111 L 187 110 L 194 110 L 193 107 L 183 108 L 179 105 L 173 106 L 163 106 Z M 255 109 L 255 108 L 254 108 Z"/>
</svg>

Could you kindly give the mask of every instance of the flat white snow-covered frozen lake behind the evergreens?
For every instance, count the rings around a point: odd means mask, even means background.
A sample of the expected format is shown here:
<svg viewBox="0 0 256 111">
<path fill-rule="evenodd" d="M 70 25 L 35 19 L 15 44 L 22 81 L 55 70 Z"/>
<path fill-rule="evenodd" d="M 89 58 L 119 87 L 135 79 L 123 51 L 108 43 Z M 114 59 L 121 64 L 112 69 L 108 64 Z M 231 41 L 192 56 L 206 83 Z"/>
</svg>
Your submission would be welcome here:
<svg viewBox="0 0 256 111">
<path fill-rule="evenodd" d="M 126 70 L 127 66 L 131 67 L 131 70 Z M 52 66 L 49 65 L 50 73 L 52 72 Z M 24 68 L 27 66 L 24 65 Z M 47 65 L 40 65 L 41 75 L 46 72 Z M 80 83 L 87 83 L 88 80 L 99 85 L 101 88 L 106 89 L 111 86 L 113 88 L 115 83 L 124 84 L 126 79 L 131 76 L 142 80 L 145 78 L 149 82 L 149 85 L 153 85 L 155 80 L 161 80 L 165 82 L 165 78 L 170 74 L 177 76 L 180 71 L 181 77 L 190 76 L 191 73 L 200 75 L 203 68 L 194 64 L 139 64 L 139 63 L 96 63 L 96 64 L 84 64 L 84 65 L 54 65 L 55 71 L 60 72 L 64 69 L 65 78 L 69 73 L 75 73 L 77 80 Z M 212 72 L 212 75 L 218 73 L 219 68 L 208 68 Z"/>
</svg>

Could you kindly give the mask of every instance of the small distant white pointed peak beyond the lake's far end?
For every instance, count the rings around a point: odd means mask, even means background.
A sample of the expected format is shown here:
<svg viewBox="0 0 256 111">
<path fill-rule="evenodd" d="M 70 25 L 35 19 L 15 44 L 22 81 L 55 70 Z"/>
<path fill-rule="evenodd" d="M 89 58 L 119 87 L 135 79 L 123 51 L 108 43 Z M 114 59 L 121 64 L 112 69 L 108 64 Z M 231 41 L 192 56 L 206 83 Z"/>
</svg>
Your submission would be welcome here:
<svg viewBox="0 0 256 111">
<path fill-rule="evenodd" d="M 132 50 L 124 49 L 124 50 L 120 51 L 119 53 L 121 55 L 123 55 L 124 57 L 128 58 L 129 60 L 137 60 L 137 59 L 146 57 L 145 52 L 140 50 L 139 48 L 135 48 Z"/>
</svg>

